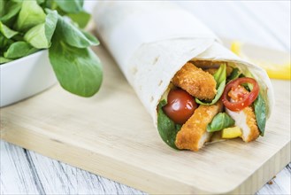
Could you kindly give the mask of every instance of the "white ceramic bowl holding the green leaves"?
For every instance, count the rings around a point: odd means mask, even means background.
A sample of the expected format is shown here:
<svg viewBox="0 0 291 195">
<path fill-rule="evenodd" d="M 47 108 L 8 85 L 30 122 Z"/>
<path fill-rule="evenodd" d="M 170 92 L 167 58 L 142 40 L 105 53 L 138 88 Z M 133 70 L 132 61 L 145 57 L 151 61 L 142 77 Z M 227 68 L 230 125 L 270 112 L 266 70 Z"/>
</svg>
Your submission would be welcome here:
<svg viewBox="0 0 291 195">
<path fill-rule="evenodd" d="M 0 106 L 29 98 L 57 82 L 47 50 L 0 65 Z"/>
</svg>

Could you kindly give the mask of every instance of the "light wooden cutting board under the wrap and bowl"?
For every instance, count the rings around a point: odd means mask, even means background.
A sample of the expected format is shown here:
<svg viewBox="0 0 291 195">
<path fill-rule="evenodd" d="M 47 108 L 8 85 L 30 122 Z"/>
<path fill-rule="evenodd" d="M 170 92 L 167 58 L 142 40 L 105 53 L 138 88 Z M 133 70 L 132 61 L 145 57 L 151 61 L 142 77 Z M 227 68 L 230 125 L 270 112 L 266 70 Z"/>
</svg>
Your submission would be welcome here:
<svg viewBox="0 0 291 195">
<path fill-rule="evenodd" d="M 1 138 L 149 193 L 254 193 L 290 161 L 290 82 L 272 81 L 276 105 L 256 142 L 174 151 L 111 56 L 102 47 L 96 53 L 104 81 L 95 97 L 76 97 L 57 85 L 4 107 Z"/>
</svg>

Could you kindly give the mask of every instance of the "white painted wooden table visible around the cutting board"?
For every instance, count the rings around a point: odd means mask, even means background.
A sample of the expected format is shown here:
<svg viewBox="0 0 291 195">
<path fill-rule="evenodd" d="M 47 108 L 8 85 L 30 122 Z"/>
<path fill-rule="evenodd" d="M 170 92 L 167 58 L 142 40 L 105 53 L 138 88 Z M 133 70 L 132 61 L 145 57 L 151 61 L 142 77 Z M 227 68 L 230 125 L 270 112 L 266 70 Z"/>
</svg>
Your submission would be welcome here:
<svg viewBox="0 0 291 195">
<path fill-rule="evenodd" d="M 86 2 L 92 10 L 94 1 Z M 220 36 L 290 52 L 290 1 L 180 1 Z M 289 89 L 290 90 L 290 89 Z M 290 112 L 290 108 L 287 108 Z M 286 121 L 290 122 L 290 121 Z M 0 141 L 1 194 L 143 194 Z M 257 194 L 290 194 L 291 163 Z"/>
</svg>

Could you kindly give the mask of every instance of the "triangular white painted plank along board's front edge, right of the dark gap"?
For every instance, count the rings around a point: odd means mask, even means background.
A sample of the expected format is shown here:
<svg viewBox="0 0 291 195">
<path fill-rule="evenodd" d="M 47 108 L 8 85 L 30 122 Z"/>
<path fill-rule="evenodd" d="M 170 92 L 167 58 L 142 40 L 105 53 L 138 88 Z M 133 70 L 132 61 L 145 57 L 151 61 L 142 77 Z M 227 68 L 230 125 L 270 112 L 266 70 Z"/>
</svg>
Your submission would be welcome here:
<svg viewBox="0 0 291 195">
<path fill-rule="evenodd" d="M 43 190 L 48 194 L 142 194 L 126 185 L 29 152 Z"/>
</svg>

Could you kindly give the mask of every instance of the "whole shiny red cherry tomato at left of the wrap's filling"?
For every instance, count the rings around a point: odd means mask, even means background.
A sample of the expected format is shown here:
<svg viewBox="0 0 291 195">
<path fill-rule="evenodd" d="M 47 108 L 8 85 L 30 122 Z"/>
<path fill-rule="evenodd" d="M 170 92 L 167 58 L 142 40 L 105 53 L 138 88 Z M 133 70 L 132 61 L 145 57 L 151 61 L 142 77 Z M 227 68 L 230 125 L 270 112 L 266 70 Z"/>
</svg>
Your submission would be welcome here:
<svg viewBox="0 0 291 195">
<path fill-rule="evenodd" d="M 167 102 L 163 107 L 164 112 L 178 124 L 184 124 L 197 107 L 195 99 L 185 90 L 170 90 Z"/>
</svg>

